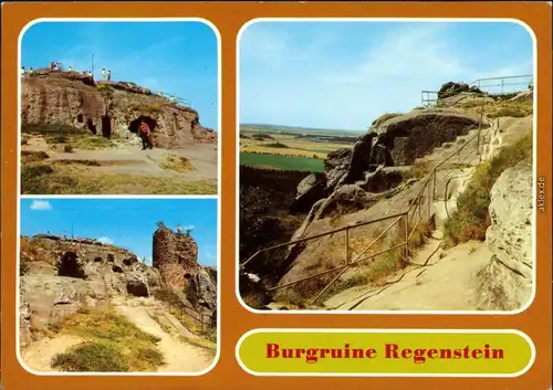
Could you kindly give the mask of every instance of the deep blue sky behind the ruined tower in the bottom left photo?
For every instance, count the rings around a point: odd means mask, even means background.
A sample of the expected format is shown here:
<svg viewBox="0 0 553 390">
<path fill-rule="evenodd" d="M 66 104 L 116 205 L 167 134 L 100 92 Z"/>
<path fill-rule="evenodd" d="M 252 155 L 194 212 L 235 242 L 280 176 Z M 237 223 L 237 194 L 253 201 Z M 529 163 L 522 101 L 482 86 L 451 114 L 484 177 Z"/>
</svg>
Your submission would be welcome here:
<svg viewBox="0 0 553 390">
<path fill-rule="evenodd" d="M 194 226 L 198 262 L 217 265 L 216 199 L 22 199 L 21 234 L 46 233 L 96 239 L 128 249 L 152 264 L 152 240 L 163 221 Z"/>
</svg>

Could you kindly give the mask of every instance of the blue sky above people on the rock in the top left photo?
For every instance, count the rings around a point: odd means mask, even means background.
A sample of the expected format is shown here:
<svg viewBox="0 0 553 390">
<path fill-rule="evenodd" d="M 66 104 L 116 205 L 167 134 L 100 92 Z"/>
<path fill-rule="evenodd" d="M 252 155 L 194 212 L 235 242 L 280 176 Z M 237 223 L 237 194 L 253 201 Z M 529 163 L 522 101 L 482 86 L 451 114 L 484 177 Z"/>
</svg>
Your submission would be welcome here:
<svg viewBox="0 0 553 390">
<path fill-rule="evenodd" d="M 79 71 L 102 68 L 113 81 L 134 82 L 175 94 L 198 110 L 200 123 L 218 130 L 217 35 L 201 22 L 41 22 L 21 40 L 21 65 L 52 61 Z"/>
</svg>

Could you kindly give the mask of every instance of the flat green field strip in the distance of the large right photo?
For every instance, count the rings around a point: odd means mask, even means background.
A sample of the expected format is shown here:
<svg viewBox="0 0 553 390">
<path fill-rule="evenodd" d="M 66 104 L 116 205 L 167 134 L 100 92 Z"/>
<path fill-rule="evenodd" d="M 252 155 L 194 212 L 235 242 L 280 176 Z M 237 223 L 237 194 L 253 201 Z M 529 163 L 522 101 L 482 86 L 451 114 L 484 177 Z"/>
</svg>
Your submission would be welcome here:
<svg viewBox="0 0 553 390">
<path fill-rule="evenodd" d="M 309 172 L 324 171 L 323 159 L 296 156 L 241 152 L 240 165 L 265 169 L 302 170 Z"/>
</svg>

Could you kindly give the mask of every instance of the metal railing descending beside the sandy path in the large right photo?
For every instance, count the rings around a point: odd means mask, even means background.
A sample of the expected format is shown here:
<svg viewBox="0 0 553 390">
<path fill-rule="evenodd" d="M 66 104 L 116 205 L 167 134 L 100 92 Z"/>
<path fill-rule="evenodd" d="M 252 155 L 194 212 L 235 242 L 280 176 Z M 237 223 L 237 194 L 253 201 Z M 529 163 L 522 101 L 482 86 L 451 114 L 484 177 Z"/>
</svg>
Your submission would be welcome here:
<svg viewBox="0 0 553 390">
<path fill-rule="evenodd" d="M 482 135 L 486 136 L 487 134 L 489 134 L 493 128 L 493 126 L 490 123 L 488 123 L 489 127 L 486 129 L 486 131 L 482 131 L 484 102 L 486 101 L 482 99 L 482 113 L 481 113 L 481 120 L 480 120 L 480 125 L 478 128 L 478 133 L 474 136 L 470 137 L 459 148 L 457 148 L 456 150 L 452 150 L 449 154 L 449 156 L 444 158 L 441 161 L 436 164 L 430 169 L 429 173 L 427 173 L 426 178 L 421 181 L 420 189 L 418 190 L 416 197 L 410 201 L 408 208 L 405 211 L 403 211 L 400 213 L 393 214 L 393 215 L 387 215 L 387 217 L 374 219 L 374 220 L 366 221 L 366 222 L 361 222 L 361 223 L 356 223 L 356 224 L 342 226 L 338 229 L 326 231 L 324 233 L 311 235 L 311 236 L 303 238 L 303 239 L 293 240 L 290 242 L 285 242 L 282 244 L 278 244 L 278 245 L 273 245 L 273 246 L 270 246 L 267 249 L 259 250 L 253 255 L 251 255 L 249 259 L 247 259 L 242 264 L 240 264 L 240 268 L 242 271 L 246 270 L 246 267 L 249 263 L 251 263 L 253 260 L 259 259 L 259 256 L 263 253 L 268 253 L 268 252 L 275 251 L 279 249 L 288 249 L 288 253 L 290 254 L 293 251 L 293 247 L 295 247 L 295 245 L 312 242 L 314 240 L 317 240 L 317 239 L 321 239 L 324 236 L 331 236 L 333 234 L 343 233 L 344 234 L 344 241 L 343 241 L 344 242 L 344 264 L 333 266 L 332 268 L 327 268 L 325 271 L 317 272 L 315 274 L 307 275 L 307 276 L 301 277 L 301 278 L 292 281 L 292 282 L 278 284 L 278 285 L 267 289 L 269 293 L 273 293 L 278 289 L 292 287 L 294 285 L 302 283 L 302 282 L 306 282 L 306 281 L 310 281 L 310 280 L 313 280 L 316 277 L 322 277 L 324 275 L 328 275 L 328 274 L 337 272 L 337 274 L 330 282 L 323 283 L 323 284 L 325 284 L 325 286 L 311 299 L 311 304 L 315 304 L 324 295 L 324 293 L 326 293 L 328 291 L 328 288 L 336 281 L 338 281 L 338 278 L 352 266 L 362 265 L 362 263 L 364 263 L 364 262 L 367 262 L 369 260 L 376 260 L 378 256 L 382 256 L 382 255 L 387 254 L 387 253 L 393 252 L 393 251 L 403 251 L 403 255 L 398 256 L 398 262 L 401 262 L 403 263 L 401 265 L 413 264 L 409 261 L 409 253 L 411 250 L 409 244 L 410 244 L 410 242 L 414 238 L 414 234 L 417 231 L 418 226 L 421 223 L 429 222 L 431 220 L 431 218 L 432 218 L 431 211 L 432 211 L 434 202 L 436 200 L 441 201 L 441 199 L 438 199 L 436 196 L 436 189 L 438 187 L 438 183 L 442 183 L 446 179 L 448 179 L 448 176 L 449 176 L 449 175 L 446 175 L 445 177 L 441 177 L 440 180 L 438 180 L 438 171 L 446 162 L 450 161 L 455 157 L 457 157 L 458 165 L 463 164 L 465 160 L 467 160 L 468 158 L 476 158 L 474 155 L 468 154 L 468 156 L 465 157 L 465 159 L 461 159 L 461 152 L 463 150 L 466 150 L 469 147 L 469 145 L 474 146 L 476 154 L 478 156 L 477 164 L 479 164 L 481 161 L 481 156 L 482 156 L 482 154 L 480 151 L 481 146 L 482 146 L 481 137 L 482 137 Z M 444 202 L 447 202 L 447 200 L 448 199 L 446 196 L 444 198 Z M 375 239 L 373 239 L 372 242 L 362 252 L 357 253 L 352 259 L 351 239 L 349 239 L 351 232 L 353 230 L 362 228 L 362 226 L 377 224 L 377 223 L 382 223 L 382 222 L 389 221 L 389 220 L 393 220 L 392 223 L 389 225 L 387 225 Z M 386 242 L 385 242 L 386 235 L 394 228 L 396 228 L 396 234 L 397 234 L 396 236 L 399 238 L 398 239 L 399 241 L 396 240 L 396 241 L 393 241 L 392 243 L 388 242 L 388 246 L 386 247 Z M 376 249 L 377 246 L 380 246 L 380 250 L 374 252 L 373 250 Z M 385 249 L 382 249 L 382 246 L 385 246 Z M 295 260 L 291 264 L 289 264 L 288 270 L 290 270 L 292 267 Z M 413 265 L 417 265 L 417 264 L 413 264 Z"/>
</svg>

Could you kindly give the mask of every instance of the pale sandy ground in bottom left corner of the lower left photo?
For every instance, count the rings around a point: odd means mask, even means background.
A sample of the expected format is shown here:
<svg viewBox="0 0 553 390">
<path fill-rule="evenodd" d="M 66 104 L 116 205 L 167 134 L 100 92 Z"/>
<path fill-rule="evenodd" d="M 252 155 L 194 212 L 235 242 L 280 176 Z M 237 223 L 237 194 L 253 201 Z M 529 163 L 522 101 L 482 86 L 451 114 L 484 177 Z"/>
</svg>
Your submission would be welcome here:
<svg viewBox="0 0 553 390">
<path fill-rule="evenodd" d="M 59 372 L 59 370 L 50 367 L 53 357 L 82 341 L 84 341 L 82 338 L 69 335 L 43 338 L 34 341 L 28 348 L 23 348 L 21 350 L 21 359 L 33 371 Z"/>
</svg>

